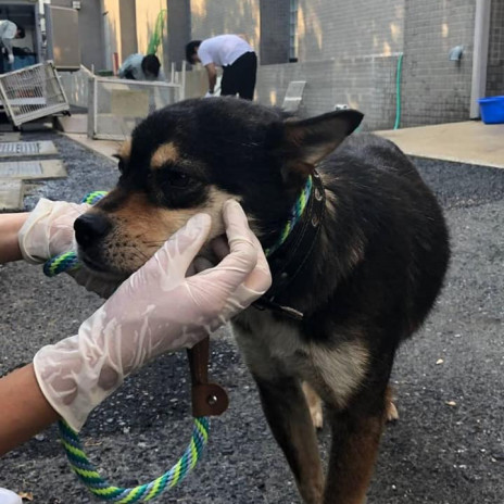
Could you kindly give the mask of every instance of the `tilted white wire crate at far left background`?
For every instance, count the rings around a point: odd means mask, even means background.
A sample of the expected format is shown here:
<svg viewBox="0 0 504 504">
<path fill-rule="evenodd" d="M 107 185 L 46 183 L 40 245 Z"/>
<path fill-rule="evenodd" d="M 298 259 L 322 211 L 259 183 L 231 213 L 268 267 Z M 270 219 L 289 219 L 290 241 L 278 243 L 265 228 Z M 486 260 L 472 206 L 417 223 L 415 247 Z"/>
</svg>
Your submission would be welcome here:
<svg viewBox="0 0 504 504">
<path fill-rule="evenodd" d="M 0 75 L 0 100 L 16 127 L 70 110 L 51 61 Z"/>
</svg>

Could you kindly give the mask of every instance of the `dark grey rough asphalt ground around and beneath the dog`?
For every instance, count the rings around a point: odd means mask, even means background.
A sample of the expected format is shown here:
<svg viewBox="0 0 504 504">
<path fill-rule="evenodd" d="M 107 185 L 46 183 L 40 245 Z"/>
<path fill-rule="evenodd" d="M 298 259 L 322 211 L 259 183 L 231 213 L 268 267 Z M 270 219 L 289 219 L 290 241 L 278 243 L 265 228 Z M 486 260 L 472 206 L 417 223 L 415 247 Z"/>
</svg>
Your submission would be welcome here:
<svg viewBox="0 0 504 504">
<path fill-rule="evenodd" d="M 33 138 L 54 140 L 68 178 L 34 186 L 28 209 L 41 196 L 78 201 L 114 185 L 115 166 L 104 158 L 53 133 L 24 135 Z M 502 504 L 504 171 L 416 163 L 445 209 L 453 260 L 437 308 L 398 355 L 401 418 L 385 434 L 368 502 Z M 74 335 L 100 304 L 70 278 L 47 279 L 39 267 L 21 263 L 0 267 L 0 374 L 29 362 L 42 344 Z M 214 338 L 212 353 L 213 378 L 228 390 L 230 407 L 212 421 L 196 471 L 159 502 L 299 503 L 227 329 Z M 185 354 L 165 356 L 92 414 L 83 439 L 111 482 L 150 481 L 181 454 L 191 431 L 187 378 Z M 319 439 L 326 454 L 327 428 Z M 0 459 L 2 486 L 32 493 L 35 503 L 93 502 L 71 474 L 55 428 Z"/>
</svg>

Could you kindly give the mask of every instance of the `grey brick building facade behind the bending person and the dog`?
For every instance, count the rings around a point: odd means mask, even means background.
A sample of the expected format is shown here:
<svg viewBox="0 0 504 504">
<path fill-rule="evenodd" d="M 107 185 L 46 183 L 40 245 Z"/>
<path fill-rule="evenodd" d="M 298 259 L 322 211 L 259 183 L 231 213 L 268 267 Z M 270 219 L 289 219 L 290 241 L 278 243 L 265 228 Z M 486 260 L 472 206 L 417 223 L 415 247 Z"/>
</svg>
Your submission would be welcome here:
<svg viewBox="0 0 504 504">
<path fill-rule="evenodd" d="M 289 83 L 305 80 L 306 115 L 349 105 L 367 129 L 386 129 L 400 105 L 401 127 L 466 121 L 478 3 L 490 18 L 479 96 L 504 94 L 504 0 L 167 0 L 168 60 L 184 59 L 181 40 L 243 34 L 262 103 L 281 104 Z"/>
</svg>

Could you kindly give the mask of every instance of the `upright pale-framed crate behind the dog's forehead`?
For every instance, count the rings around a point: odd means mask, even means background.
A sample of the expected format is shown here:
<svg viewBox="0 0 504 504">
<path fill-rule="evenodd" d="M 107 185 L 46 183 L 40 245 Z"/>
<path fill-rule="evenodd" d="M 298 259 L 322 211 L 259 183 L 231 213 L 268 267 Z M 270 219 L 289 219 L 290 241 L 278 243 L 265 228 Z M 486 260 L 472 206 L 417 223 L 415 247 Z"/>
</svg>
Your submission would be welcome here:
<svg viewBox="0 0 504 504">
<path fill-rule="evenodd" d="M 179 101 L 184 85 L 94 76 L 89 80 L 88 137 L 124 140 L 150 113 Z"/>
</svg>

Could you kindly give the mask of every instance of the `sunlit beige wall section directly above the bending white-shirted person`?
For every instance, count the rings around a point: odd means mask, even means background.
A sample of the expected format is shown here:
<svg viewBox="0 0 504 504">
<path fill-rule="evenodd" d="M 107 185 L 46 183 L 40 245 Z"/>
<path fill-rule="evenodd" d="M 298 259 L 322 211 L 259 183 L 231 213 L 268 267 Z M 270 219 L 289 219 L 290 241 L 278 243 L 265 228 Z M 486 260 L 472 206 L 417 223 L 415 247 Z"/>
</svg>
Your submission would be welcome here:
<svg viewBox="0 0 504 504">
<path fill-rule="evenodd" d="M 191 38 L 244 35 L 259 53 L 260 0 L 191 0 Z"/>
</svg>

